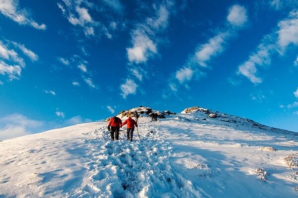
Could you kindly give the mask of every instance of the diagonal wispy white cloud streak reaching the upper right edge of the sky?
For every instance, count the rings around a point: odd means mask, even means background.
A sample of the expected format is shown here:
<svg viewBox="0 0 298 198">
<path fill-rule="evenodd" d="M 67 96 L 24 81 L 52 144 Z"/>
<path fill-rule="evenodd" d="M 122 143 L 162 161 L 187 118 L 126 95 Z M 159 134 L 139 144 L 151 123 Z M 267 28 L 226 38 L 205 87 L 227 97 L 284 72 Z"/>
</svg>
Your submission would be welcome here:
<svg viewBox="0 0 298 198">
<path fill-rule="evenodd" d="M 243 64 L 238 67 L 238 74 L 247 77 L 252 83 L 262 83 L 262 79 L 257 77 L 257 65 L 271 63 L 271 56 L 279 52 L 283 55 L 291 45 L 298 45 L 298 11 L 291 11 L 289 17 L 278 23 L 277 30 L 270 35 L 265 35 L 257 50 L 249 56 Z"/>
</svg>

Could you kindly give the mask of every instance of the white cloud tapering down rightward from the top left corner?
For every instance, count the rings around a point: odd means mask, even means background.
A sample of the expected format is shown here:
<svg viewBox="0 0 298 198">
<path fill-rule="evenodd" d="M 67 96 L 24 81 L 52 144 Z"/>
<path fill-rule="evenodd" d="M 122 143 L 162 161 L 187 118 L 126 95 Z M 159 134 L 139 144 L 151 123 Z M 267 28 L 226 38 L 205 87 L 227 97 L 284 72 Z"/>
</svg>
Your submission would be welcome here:
<svg viewBox="0 0 298 198">
<path fill-rule="evenodd" d="M 27 9 L 19 8 L 18 0 L 0 0 L 0 12 L 20 25 L 30 25 L 39 30 L 45 30 L 46 25 L 39 25 L 31 19 Z"/>
</svg>

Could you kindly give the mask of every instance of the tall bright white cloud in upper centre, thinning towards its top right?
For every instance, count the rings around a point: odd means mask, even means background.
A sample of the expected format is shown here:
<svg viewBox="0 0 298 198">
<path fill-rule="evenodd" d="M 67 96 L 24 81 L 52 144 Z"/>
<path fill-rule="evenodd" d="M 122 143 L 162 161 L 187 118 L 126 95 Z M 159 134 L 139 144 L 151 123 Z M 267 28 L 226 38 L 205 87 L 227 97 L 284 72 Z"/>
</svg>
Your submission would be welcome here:
<svg viewBox="0 0 298 198">
<path fill-rule="evenodd" d="M 163 32 L 168 24 L 170 4 L 159 5 L 154 15 L 140 23 L 132 32 L 132 47 L 127 48 L 127 55 L 131 63 L 146 63 L 149 57 L 157 54 L 157 45 L 160 40 L 156 34 Z"/>
</svg>

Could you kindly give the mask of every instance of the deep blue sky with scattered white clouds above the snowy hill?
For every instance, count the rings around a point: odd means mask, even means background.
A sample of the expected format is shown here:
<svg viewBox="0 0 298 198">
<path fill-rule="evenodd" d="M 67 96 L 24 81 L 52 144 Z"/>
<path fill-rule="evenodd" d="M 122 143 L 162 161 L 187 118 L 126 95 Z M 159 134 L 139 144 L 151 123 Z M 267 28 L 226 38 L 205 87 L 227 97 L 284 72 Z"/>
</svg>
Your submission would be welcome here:
<svg viewBox="0 0 298 198">
<path fill-rule="evenodd" d="M 0 0 L 0 139 L 140 105 L 298 132 L 298 0 Z"/>
</svg>

